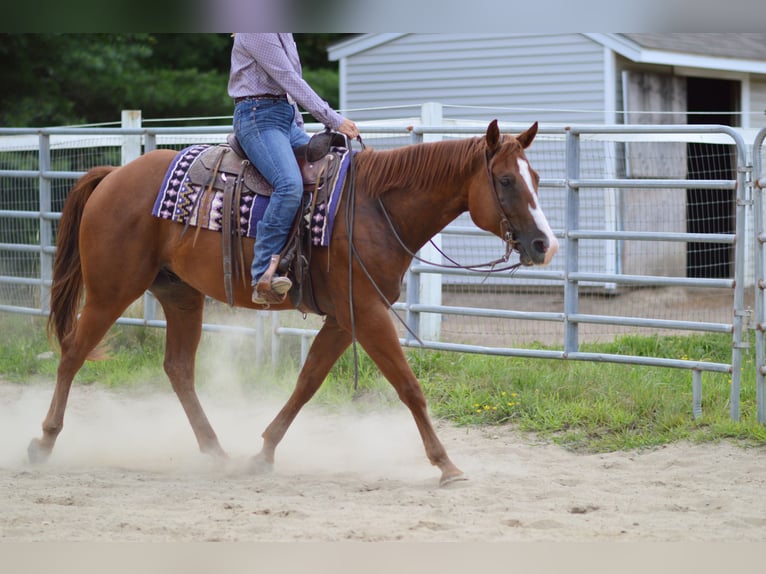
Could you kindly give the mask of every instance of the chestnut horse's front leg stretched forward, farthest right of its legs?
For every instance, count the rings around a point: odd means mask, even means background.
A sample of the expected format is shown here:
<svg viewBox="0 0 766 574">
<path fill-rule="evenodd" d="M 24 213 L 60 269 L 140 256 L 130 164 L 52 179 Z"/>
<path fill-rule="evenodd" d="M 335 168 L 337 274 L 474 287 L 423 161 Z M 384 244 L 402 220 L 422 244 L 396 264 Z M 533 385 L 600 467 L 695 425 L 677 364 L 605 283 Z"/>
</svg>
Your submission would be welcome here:
<svg viewBox="0 0 766 574">
<path fill-rule="evenodd" d="M 463 471 L 453 464 L 447 451 L 436 436 L 428 416 L 426 397 L 415 373 L 404 356 L 399 338 L 388 310 L 376 308 L 357 320 L 359 342 L 370 355 L 383 375 L 396 389 L 399 398 L 412 412 L 415 424 L 423 439 L 423 446 L 431 464 L 442 472 L 440 486 L 456 480 L 464 480 Z"/>
</svg>

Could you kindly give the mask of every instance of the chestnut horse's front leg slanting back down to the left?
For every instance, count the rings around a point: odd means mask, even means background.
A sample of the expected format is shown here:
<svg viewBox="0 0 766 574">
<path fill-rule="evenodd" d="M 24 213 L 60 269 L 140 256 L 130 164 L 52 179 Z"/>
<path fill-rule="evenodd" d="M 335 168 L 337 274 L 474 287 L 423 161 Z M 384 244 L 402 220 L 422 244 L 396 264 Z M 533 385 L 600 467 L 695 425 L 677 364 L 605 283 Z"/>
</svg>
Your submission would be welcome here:
<svg viewBox="0 0 766 574">
<path fill-rule="evenodd" d="M 311 344 L 292 395 L 263 432 L 263 448 L 252 460 L 253 470 L 269 471 L 273 468 L 274 451 L 290 424 L 322 386 L 327 373 L 350 344 L 351 335 L 341 329 L 334 318 L 328 317 Z"/>
</svg>

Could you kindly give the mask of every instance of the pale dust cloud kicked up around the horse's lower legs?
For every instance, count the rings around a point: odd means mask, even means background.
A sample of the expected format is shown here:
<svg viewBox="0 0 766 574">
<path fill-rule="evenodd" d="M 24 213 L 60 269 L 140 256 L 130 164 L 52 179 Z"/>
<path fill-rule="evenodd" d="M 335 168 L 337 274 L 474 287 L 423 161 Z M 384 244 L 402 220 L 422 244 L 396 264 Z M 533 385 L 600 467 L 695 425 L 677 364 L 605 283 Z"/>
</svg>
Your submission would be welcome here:
<svg viewBox="0 0 766 574">
<path fill-rule="evenodd" d="M 236 347 L 234 348 L 236 349 Z M 232 461 L 224 472 L 244 472 L 261 448 L 261 433 L 279 412 L 291 389 L 258 392 L 230 372 L 222 349 L 198 367 L 205 374 L 198 391 L 218 438 Z M 214 374 L 214 376 L 210 376 Z M 200 380 L 202 377 L 200 377 Z M 29 440 L 53 395 L 54 381 L 13 384 L 0 380 L 0 466 L 27 465 Z M 170 383 L 133 383 L 110 389 L 98 383 L 72 386 L 64 430 L 50 465 L 119 467 L 163 472 L 221 472 L 202 455 Z M 397 472 L 397 468 L 400 469 Z M 352 472 L 375 476 L 425 477 L 434 469 L 423 451 L 415 423 L 404 405 L 364 412 L 353 405 L 339 412 L 304 407 L 277 449 L 276 470 L 284 473 Z"/>
</svg>

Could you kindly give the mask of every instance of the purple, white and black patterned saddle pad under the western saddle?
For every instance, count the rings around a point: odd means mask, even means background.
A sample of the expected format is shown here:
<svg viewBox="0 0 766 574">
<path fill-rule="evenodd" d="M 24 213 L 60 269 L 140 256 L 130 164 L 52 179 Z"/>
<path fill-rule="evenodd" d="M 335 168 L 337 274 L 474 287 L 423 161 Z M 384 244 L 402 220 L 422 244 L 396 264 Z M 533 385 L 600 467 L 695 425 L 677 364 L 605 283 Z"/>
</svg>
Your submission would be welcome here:
<svg viewBox="0 0 766 574">
<path fill-rule="evenodd" d="M 224 146 L 200 144 L 189 146 L 178 152 L 165 173 L 152 208 L 152 215 L 183 225 L 222 231 L 224 199 L 221 186 L 206 186 L 204 182 L 200 182 L 199 178 L 190 177 L 197 162 L 204 162 L 206 153 L 216 151 L 211 148 L 221 147 Z M 353 155 L 349 151 L 345 148 L 333 150 L 336 161 L 340 162 L 338 169 L 335 170 L 336 176 L 327 181 L 320 179 L 311 191 L 317 194 L 316 201 L 310 202 L 314 205 L 308 223 L 312 245 L 326 247 L 330 244 L 335 214 L 343 192 L 343 183 Z M 228 153 L 233 152 L 228 150 Z M 260 174 L 257 172 L 255 174 L 254 178 L 249 176 L 248 179 L 262 180 Z M 238 173 L 222 172 L 216 174 L 216 178 L 222 179 L 219 183 L 226 184 L 227 179 L 236 178 L 238 175 Z M 239 205 L 234 205 L 232 208 L 238 212 L 240 235 L 254 239 L 258 222 L 263 218 L 269 204 L 271 190 L 268 186 L 261 186 L 257 182 L 256 185 L 249 185 L 248 179 L 244 180 L 244 185 L 241 187 Z M 310 189 L 309 185 L 307 189 Z"/>
</svg>

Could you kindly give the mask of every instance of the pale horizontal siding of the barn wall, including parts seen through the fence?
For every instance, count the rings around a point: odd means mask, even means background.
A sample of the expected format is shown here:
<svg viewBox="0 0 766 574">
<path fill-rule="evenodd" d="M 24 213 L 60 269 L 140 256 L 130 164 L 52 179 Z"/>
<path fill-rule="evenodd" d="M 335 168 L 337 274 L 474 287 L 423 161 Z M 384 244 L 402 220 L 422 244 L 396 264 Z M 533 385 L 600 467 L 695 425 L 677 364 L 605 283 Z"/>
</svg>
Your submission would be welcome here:
<svg viewBox="0 0 766 574">
<path fill-rule="evenodd" d="M 424 102 L 439 102 L 445 118 L 530 124 L 604 121 L 604 49 L 581 34 L 405 34 L 353 53 L 344 66 L 343 107 L 355 120 L 419 116 Z M 540 138 L 529 157 L 543 178 L 564 177 L 561 142 Z M 601 172 L 603 162 L 596 163 Z M 583 175 L 592 167 L 584 161 Z M 590 222 L 586 227 L 602 229 L 603 193 L 583 195 L 581 214 Z M 563 190 L 541 190 L 541 203 L 554 231 L 563 229 Z M 470 216 L 463 214 L 455 225 L 471 225 Z M 443 242 L 462 261 L 487 261 L 502 252 L 496 238 L 445 235 Z M 581 268 L 604 271 L 603 246 L 583 243 L 588 249 L 583 250 Z M 563 262 L 559 257 L 552 267 L 559 269 Z"/>
</svg>

